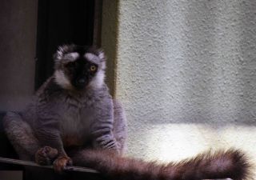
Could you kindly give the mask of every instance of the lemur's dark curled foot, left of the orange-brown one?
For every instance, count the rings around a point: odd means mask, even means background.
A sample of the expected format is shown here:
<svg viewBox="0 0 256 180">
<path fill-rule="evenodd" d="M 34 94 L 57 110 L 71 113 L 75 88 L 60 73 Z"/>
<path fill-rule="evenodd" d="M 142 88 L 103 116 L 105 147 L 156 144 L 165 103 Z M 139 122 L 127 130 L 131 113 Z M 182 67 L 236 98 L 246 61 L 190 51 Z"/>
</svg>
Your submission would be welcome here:
<svg viewBox="0 0 256 180">
<path fill-rule="evenodd" d="M 44 146 L 35 154 L 35 162 L 40 165 L 50 165 L 58 156 L 58 150 L 50 146 Z"/>
</svg>

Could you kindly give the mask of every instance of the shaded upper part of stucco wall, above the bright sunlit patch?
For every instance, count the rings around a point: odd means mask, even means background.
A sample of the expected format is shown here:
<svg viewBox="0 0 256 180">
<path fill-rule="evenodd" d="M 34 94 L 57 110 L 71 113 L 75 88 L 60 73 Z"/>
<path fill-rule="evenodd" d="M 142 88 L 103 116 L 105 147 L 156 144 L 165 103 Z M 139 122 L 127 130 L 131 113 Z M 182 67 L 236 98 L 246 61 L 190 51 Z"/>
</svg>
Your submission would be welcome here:
<svg viewBox="0 0 256 180">
<path fill-rule="evenodd" d="M 121 2 L 117 97 L 130 123 L 256 124 L 254 8 Z"/>
</svg>

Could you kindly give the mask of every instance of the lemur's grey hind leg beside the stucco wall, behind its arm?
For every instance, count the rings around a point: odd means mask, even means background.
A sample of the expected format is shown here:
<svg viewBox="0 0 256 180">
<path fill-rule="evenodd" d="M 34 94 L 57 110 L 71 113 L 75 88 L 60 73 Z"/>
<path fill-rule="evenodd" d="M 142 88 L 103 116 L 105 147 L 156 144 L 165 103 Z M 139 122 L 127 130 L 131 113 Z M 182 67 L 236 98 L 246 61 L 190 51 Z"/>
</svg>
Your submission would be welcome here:
<svg viewBox="0 0 256 180">
<path fill-rule="evenodd" d="M 126 150 L 126 114 L 122 109 L 122 105 L 117 100 L 113 100 L 114 105 L 114 138 L 118 142 L 119 150 L 122 153 Z"/>
</svg>

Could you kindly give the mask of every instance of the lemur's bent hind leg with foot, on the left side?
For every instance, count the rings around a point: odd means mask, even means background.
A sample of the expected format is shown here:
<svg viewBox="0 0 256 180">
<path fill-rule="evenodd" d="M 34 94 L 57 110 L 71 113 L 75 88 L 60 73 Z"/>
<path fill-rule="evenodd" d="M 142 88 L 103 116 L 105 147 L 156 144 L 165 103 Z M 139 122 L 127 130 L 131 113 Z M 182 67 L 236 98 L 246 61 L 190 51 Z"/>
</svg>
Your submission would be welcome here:
<svg viewBox="0 0 256 180">
<path fill-rule="evenodd" d="M 3 125 L 20 159 L 38 162 L 39 164 L 50 164 L 57 156 L 58 151 L 50 147 L 40 148 L 38 139 L 34 137 L 30 125 L 22 120 L 18 113 L 8 112 L 3 118 Z"/>
</svg>

